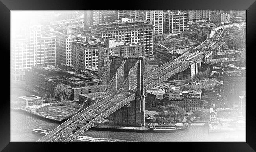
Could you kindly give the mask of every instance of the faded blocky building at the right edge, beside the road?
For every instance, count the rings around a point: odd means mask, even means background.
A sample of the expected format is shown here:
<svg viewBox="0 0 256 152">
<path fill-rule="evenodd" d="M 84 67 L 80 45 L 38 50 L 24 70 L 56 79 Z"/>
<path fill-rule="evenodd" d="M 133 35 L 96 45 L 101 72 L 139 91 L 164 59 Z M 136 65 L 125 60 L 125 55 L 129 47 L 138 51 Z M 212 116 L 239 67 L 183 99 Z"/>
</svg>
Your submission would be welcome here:
<svg viewBox="0 0 256 152">
<path fill-rule="evenodd" d="M 239 101 L 239 96 L 245 91 L 245 72 L 223 72 L 223 94 L 228 101 Z"/>
</svg>

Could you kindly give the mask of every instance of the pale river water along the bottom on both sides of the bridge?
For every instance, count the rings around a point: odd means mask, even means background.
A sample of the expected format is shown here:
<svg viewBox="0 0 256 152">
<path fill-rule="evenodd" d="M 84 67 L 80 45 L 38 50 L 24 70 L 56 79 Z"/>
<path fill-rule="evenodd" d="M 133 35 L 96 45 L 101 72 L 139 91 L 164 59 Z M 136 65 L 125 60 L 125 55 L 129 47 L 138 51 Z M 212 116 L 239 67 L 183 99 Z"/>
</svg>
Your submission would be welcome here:
<svg viewBox="0 0 256 152">
<path fill-rule="evenodd" d="M 32 134 L 32 129 L 37 127 L 50 128 L 58 127 L 61 123 L 45 118 L 28 114 L 21 110 L 11 110 L 11 142 L 35 142 L 42 136 Z M 172 142 L 172 141 L 245 141 L 245 132 L 237 131 L 226 133 L 228 138 L 224 138 L 224 133 L 208 134 L 207 126 L 203 124 L 192 124 L 187 131 L 176 131 L 173 133 L 139 133 L 139 132 L 114 132 L 87 130 L 82 136 L 93 138 L 111 138 L 126 141 L 141 142 Z"/>
</svg>

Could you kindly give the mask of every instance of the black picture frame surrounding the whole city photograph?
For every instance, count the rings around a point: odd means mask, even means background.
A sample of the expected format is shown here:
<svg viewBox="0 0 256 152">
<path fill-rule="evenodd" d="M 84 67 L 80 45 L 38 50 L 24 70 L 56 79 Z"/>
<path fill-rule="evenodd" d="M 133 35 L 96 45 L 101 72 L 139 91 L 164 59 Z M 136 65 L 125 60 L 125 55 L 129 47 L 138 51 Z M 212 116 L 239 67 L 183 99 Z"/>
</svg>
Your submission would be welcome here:
<svg viewBox="0 0 256 152">
<path fill-rule="evenodd" d="M 117 5 L 115 5 L 117 4 Z M 65 0 L 0 0 L 0 16 L 1 16 L 1 51 L 2 58 L 8 60 L 10 57 L 10 11 L 11 10 L 83 10 L 83 9 L 217 9 L 217 10 L 235 10 L 242 9 L 247 10 L 247 25 L 246 25 L 246 44 L 247 44 L 247 62 L 253 62 L 249 60 L 249 56 L 254 51 L 253 44 L 256 42 L 254 38 L 256 28 L 256 2 L 255 0 L 137 0 L 137 1 L 88 1 L 88 0 L 76 0 L 76 1 L 65 1 Z M 3 61 L 2 65 L 6 69 L 3 71 L 11 70 L 6 63 Z M 252 67 L 253 64 L 248 63 L 247 68 Z M 7 73 L 7 72 L 4 72 Z M 4 79 L 3 82 L 7 83 L 8 77 L 6 74 L 2 74 Z M 249 71 L 250 73 L 250 71 Z M 252 74 L 247 74 L 247 81 Z M 4 90 L 8 86 L 2 85 Z M 246 89 L 249 85 L 246 85 Z M 247 89 L 247 109 L 246 109 L 246 142 L 245 143 L 10 143 L 10 104 L 7 95 L 3 94 L 0 113 L 0 150 L 6 152 L 12 151 L 53 151 L 53 148 L 57 148 L 57 151 L 61 150 L 74 150 L 75 148 L 81 148 L 83 151 L 95 148 L 93 151 L 100 150 L 115 150 L 115 151 L 131 151 L 146 149 L 154 150 L 189 150 L 189 151 L 230 151 L 230 152 L 247 152 L 256 150 L 256 127 L 255 127 L 255 112 L 254 112 L 254 100 L 250 100 L 250 96 L 253 96 L 253 92 L 250 93 L 250 89 Z M 7 94 L 7 93 L 6 93 Z M 90 147 L 90 148 L 89 148 Z M 91 149 L 92 150 L 92 149 Z"/>
</svg>

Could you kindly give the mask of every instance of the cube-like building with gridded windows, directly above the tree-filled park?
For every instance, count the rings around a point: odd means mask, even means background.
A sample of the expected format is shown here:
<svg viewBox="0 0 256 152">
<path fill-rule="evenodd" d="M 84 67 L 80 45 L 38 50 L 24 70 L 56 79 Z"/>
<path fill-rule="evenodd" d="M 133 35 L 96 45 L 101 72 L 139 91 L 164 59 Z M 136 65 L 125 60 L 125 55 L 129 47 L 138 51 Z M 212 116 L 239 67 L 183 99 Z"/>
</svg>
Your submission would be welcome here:
<svg viewBox="0 0 256 152">
<path fill-rule="evenodd" d="M 187 13 L 179 11 L 165 11 L 163 13 L 163 32 L 178 33 L 188 30 Z"/>
</svg>

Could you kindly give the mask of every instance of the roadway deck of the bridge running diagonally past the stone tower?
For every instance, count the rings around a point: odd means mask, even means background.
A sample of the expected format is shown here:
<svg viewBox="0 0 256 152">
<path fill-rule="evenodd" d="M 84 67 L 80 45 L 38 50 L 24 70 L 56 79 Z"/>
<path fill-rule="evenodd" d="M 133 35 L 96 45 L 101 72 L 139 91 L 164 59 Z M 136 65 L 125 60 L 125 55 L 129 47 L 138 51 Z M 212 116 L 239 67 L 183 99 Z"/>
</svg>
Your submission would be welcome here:
<svg viewBox="0 0 256 152">
<path fill-rule="evenodd" d="M 217 40 L 220 38 L 220 36 L 217 36 Z M 201 53 L 202 51 L 193 53 L 187 52 L 176 58 L 174 61 L 167 62 L 160 67 L 157 67 L 156 69 L 144 74 L 145 92 L 150 88 L 159 85 L 162 81 L 167 80 L 174 74 L 187 69 L 190 64 L 189 62 L 191 62 L 186 61 L 187 58 Z M 178 60 L 180 61 L 177 62 Z M 134 85 L 134 81 L 131 83 L 132 91 L 135 92 L 136 87 Z M 123 88 L 120 90 L 122 89 Z M 83 132 L 96 125 L 96 123 L 109 116 L 109 114 L 115 112 L 135 99 L 135 93 L 120 93 L 120 90 L 119 92 L 116 92 L 114 98 L 109 98 L 112 95 L 110 94 L 93 105 L 90 105 L 39 139 L 38 142 L 69 142 L 74 140 Z"/>
</svg>

